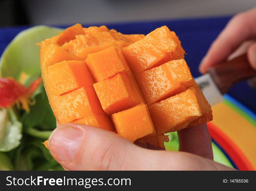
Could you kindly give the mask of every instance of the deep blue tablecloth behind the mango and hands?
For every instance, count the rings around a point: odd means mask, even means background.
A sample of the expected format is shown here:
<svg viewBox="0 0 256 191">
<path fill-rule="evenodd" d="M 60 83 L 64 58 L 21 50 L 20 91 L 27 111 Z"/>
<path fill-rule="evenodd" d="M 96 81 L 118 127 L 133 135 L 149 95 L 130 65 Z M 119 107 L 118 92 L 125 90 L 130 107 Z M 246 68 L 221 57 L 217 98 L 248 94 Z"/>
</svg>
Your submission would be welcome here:
<svg viewBox="0 0 256 191">
<path fill-rule="evenodd" d="M 126 34 L 147 34 L 155 28 L 167 25 L 172 31 L 177 33 L 182 41 L 182 47 L 186 51 L 186 62 L 191 68 L 193 76 L 197 77 L 200 75 L 198 72 L 198 65 L 201 59 L 207 52 L 210 44 L 222 31 L 230 18 L 231 17 L 181 19 L 105 25 Z M 83 24 L 84 27 L 93 25 L 94 24 Z M 99 26 L 100 24 L 97 25 Z M 2 54 L 5 47 L 15 37 L 15 35 L 26 28 L 28 28 L 28 26 L 0 28 L 0 53 Z M 235 85 L 230 89 L 228 94 L 256 113 L 256 91 L 252 90 L 246 82 Z"/>
</svg>

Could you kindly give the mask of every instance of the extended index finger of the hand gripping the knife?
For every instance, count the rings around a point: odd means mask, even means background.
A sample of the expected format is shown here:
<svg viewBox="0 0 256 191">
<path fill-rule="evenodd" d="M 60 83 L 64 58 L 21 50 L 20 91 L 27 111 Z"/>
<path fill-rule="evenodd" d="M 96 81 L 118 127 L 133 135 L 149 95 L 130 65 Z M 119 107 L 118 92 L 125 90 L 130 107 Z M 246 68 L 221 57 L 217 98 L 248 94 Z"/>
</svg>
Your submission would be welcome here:
<svg viewBox="0 0 256 191">
<path fill-rule="evenodd" d="M 225 61 L 242 42 L 256 38 L 255 23 L 256 8 L 234 16 L 211 44 L 199 66 L 200 72 L 205 73 L 208 67 Z"/>
</svg>

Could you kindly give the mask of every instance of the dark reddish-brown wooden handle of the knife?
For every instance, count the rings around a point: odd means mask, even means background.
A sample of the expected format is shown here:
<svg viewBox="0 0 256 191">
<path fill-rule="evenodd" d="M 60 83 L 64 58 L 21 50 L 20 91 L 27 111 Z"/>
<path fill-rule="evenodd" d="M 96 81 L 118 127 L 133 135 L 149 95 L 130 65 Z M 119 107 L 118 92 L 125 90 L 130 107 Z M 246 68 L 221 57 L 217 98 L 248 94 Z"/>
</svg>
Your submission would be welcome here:
<svg viewBox="0 0 256 191">
<path fill-rule="evenodd" d="M 222 94 L 227 93 L 235 83 L 256 76 L 256 71 L 250 66 L 246 54 L 211 67 L 207 72 Z"/>
</svg>

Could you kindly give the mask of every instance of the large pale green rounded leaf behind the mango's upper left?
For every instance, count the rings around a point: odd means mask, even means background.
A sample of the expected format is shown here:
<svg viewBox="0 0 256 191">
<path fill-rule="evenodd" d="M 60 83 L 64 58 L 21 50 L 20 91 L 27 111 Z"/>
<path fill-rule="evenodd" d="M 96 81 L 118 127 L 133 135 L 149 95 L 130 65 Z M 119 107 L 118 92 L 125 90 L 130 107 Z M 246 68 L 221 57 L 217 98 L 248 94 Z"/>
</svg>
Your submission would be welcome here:
<svg viewBox="0 0 256 191">
<path fill-rule="evenodd" d="M 0 58 L 0 76 L 19 80 L 20 74 L 25 72 L 29 75 L 25 85 L 29 85 L 41 75 L 40 51 L 36 44 L 57 35 L 58 31 L 62 30 L 49 26 L 35 26 L 20 32 Z"/>
</svg>

